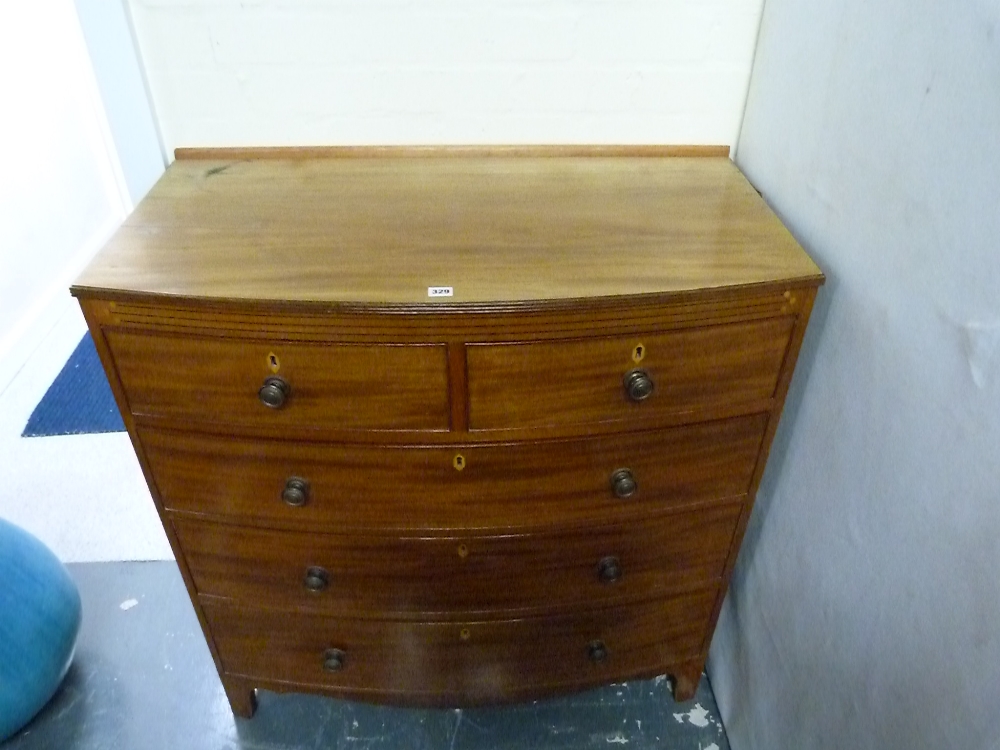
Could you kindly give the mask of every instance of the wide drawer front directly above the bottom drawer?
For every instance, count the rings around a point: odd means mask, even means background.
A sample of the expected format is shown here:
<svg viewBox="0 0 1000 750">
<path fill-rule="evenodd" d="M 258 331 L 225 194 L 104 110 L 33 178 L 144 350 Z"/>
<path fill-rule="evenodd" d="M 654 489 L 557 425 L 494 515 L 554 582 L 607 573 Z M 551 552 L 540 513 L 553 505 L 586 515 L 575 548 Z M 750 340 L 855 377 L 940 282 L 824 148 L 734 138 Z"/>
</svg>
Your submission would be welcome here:
<svg viewBox="0 0 1000 750">
<path fill-rule="evenodd" d="M 329 612 L 600 605 L 721 578 L 742 503 L 562 533 L 275 532 L 174 520 L 199 593 Z"/>
</svg>

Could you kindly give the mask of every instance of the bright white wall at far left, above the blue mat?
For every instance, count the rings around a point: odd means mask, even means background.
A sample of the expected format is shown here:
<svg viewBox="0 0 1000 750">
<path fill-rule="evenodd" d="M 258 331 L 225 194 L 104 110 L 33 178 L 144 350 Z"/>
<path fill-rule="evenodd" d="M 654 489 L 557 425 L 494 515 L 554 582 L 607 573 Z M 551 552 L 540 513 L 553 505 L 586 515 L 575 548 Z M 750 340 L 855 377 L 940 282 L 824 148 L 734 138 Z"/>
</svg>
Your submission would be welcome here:
<svg viewBox="0 0 1000 750">
<path fill-rule="evenodd" d="M 72 0 L 0 5 L 0 102 L 3 391 L 72 304 L 128 193 Z"/>
</svg>

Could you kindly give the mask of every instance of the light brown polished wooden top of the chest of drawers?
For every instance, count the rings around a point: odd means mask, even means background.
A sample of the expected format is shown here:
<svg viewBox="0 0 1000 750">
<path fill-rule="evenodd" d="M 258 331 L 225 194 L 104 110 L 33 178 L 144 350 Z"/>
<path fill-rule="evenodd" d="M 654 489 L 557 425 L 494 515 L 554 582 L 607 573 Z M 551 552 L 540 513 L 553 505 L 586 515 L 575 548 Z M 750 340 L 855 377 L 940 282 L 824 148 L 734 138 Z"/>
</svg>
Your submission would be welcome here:
<svg viewBox="0 0 1000 750">
<path fill-rule="evenodd" d="M 725 157 L 227 156 L 175 161 L 74 294 L 451 306 L 822 280 Z"/>
</svg>

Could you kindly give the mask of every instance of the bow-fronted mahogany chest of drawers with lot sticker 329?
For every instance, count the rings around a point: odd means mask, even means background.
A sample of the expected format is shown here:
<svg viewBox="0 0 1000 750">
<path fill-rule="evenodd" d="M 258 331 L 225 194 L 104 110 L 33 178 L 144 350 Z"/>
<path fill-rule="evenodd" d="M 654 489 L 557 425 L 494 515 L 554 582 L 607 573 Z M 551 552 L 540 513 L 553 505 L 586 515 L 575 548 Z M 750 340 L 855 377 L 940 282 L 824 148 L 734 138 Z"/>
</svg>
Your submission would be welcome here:
<svg viewBox="0 0 1000 750">
<path fill-rule="evenodd" d="M 73 292 L 234 712 L 689 698 L 822 283 L 732 163 L 179 156 Z"/>
</svg>

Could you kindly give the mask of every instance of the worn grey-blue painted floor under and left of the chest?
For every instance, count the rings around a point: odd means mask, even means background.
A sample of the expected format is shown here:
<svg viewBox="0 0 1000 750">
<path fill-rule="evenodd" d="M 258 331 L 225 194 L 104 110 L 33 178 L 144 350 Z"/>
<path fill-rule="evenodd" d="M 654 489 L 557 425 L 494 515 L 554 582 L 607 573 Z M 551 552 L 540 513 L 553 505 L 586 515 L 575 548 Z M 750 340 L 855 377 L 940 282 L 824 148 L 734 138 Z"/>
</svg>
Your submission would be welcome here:
<svg viewBox="0 0 1000 750">
<path fill-rule="evenodd" d="M 3 750 L 729 749 L 706 678 L 683 706 L 660 677 L 474 710 L 262 692 L 256 716 L 237 719 L 173 562 L 68 567 L 84 609 L 73 666 Z"/>
</svg>

